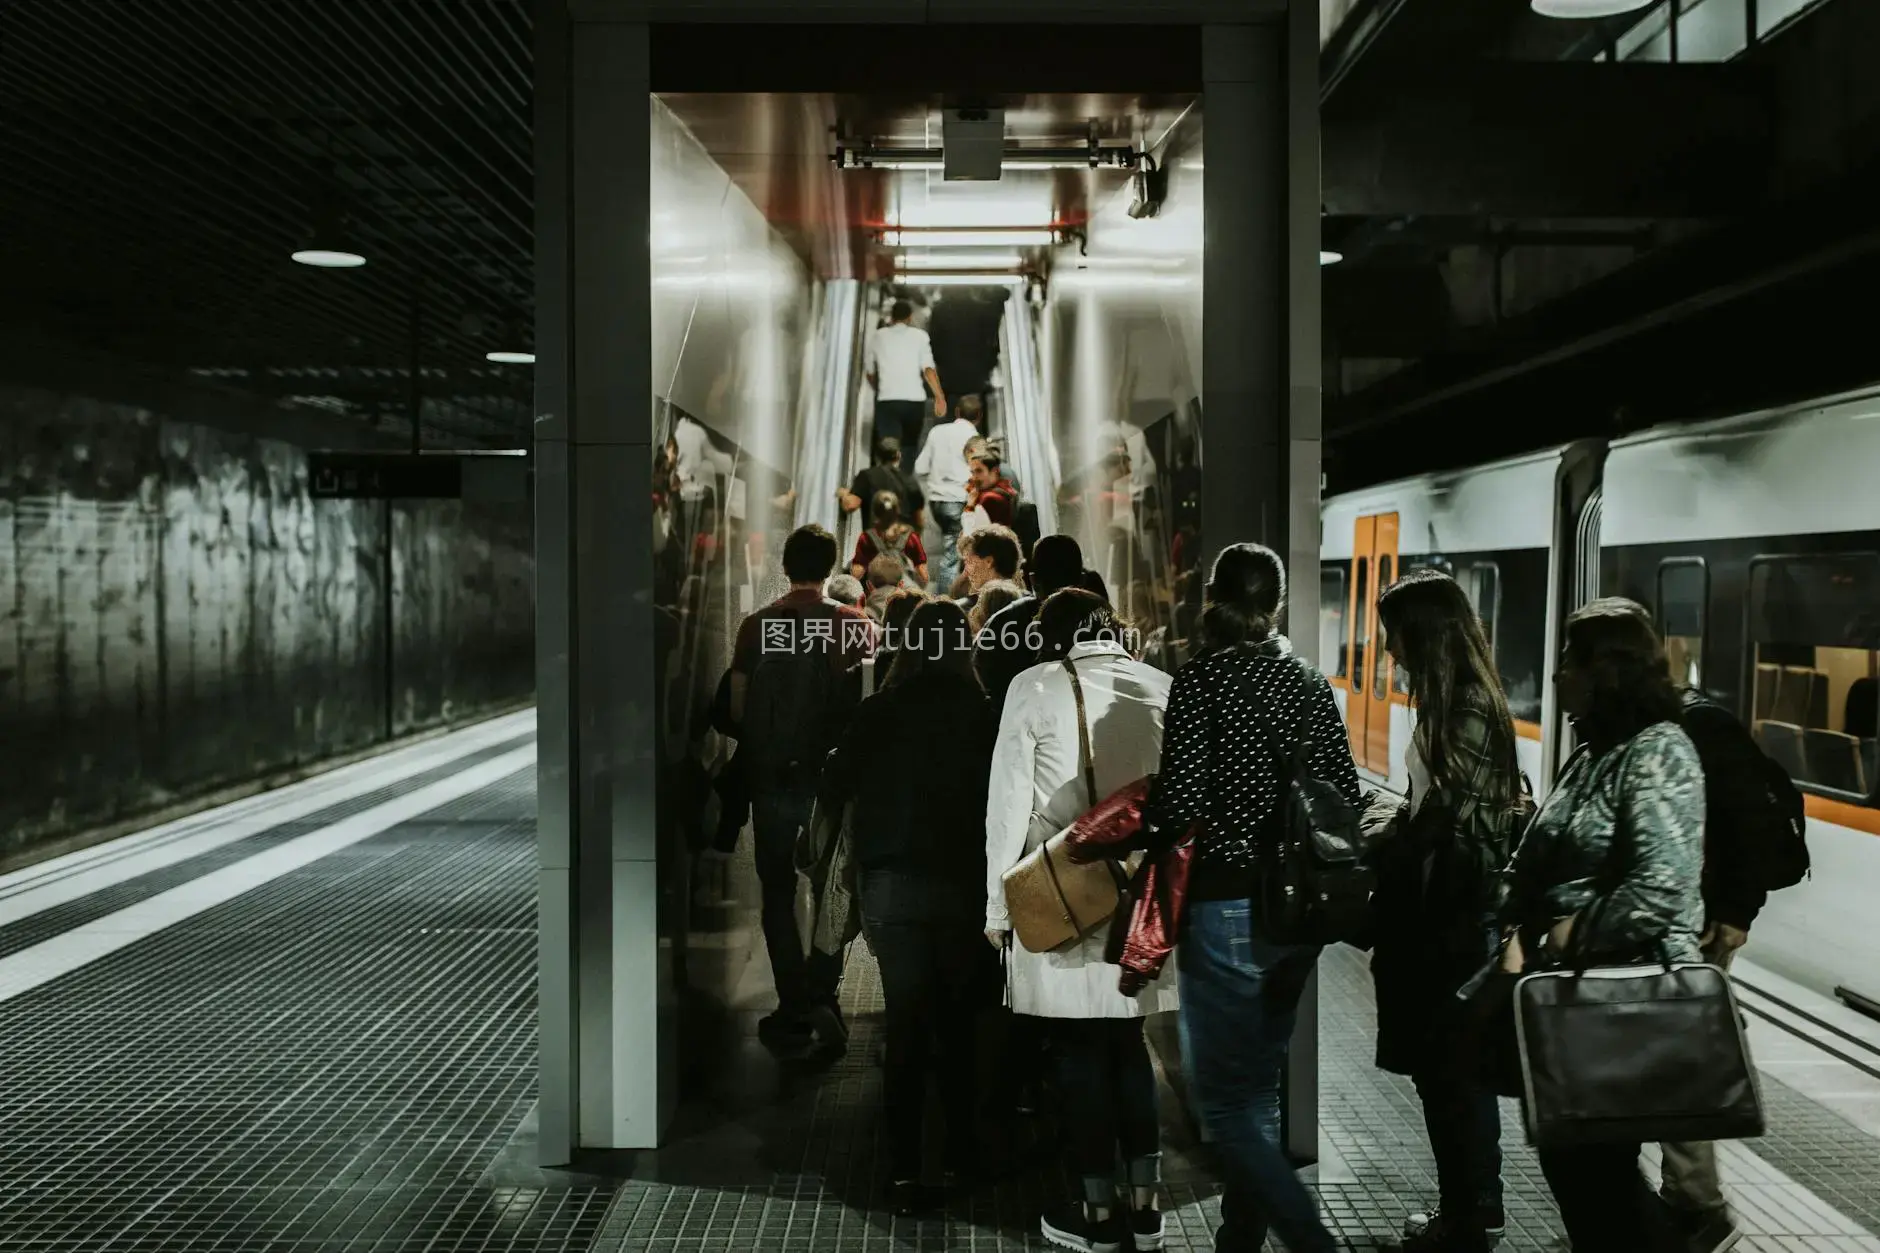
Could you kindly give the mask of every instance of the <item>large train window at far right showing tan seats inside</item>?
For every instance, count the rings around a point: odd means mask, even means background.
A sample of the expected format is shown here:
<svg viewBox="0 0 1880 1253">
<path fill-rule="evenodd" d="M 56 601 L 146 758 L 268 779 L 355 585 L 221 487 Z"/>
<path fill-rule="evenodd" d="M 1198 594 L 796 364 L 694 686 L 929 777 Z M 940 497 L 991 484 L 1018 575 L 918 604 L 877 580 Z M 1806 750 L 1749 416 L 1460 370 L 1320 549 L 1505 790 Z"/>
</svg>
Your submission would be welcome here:
<svg viewBox="0 0 1880 1253">
<path fill-rule="evenodd" d="M 1750 563 L 1750 726 L 1795 783 L 1867 798 L 1880 788 L 1880 553 Z"/>
</svg>

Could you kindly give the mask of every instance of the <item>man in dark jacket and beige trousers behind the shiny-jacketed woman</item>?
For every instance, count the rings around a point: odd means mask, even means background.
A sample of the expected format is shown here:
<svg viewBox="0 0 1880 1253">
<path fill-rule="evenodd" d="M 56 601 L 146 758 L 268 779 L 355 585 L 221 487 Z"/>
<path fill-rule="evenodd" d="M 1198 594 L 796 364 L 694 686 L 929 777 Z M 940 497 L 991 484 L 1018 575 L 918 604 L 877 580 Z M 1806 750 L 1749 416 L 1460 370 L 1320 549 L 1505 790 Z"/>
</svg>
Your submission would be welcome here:
<svg viewBox="0 0 1880 1253">
<path fill-rule="evenodd" d="M 1703 958 L 1730 969 L 1769 892 L 1763 852 L 1777 820 L 1769 766 L 1730 709 L 1701 692 L 1684 692 L 1684 734 L 1703 766 Z M 1684 1225 L 1692 1253 L 1731 1247 L 1737 1225 L 1716 1178 L 1711 1142 L 1666 1144 L 1662 1197 Z"/>
</svg>

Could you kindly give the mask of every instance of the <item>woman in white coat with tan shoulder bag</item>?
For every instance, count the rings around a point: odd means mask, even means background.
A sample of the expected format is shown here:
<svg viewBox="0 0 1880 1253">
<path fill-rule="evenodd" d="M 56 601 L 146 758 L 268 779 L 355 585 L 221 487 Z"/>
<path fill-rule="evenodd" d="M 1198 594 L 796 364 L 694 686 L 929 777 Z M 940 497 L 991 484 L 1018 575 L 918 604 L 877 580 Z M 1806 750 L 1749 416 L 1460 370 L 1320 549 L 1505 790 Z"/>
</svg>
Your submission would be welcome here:
<svg viewBox="0 0 1880 1253">
<path fill-rule="evenodd" d="M 1177 1008 L 1175 976 L 1164 975 L 1136 997 L 1117 991 L 1120 971 L 1104 961 L 1104 928 L 1055 952 L 1026 952 L 1011 939 L 1002 877 L 1090 807 L 1073 683 L 1083 689 L 1102 798 L 1156 771 L 1169 677 L 1130 658 L 1115 613 L 1083 589 L 1045 600 L 1038 632 L 1040 664 L 1011 683 L 993 749 L 985 933 L 1006 950 L 1011 1010 L 1045 1020 L 1040 1027 L 1064 1099 L 1058 1118 L 1083 1180 L 1081 1204 L 1049 1208 L 1042 1230 L 1064 1249 L 1113 1253 L 1128 1227 L 1137 1249 L 1160 1249 L 1160 1123 L 1143 1018 Z M 1128 1185 L 1122 1213 L 1119 1150 Z"/>
</svg>

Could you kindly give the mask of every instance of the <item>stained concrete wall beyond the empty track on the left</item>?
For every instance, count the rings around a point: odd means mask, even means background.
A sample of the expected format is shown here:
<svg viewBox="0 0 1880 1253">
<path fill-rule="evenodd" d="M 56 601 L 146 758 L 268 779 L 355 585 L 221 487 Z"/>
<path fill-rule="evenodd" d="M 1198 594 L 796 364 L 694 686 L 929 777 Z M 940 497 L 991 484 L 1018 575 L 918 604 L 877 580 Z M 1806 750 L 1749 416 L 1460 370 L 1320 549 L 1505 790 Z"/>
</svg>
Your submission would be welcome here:
<svg viewBox="0 0 1880 1253">
<path fill-rule="evenodd" d="M 0 386 L 0 862 L 526 700 L 530 536 L 526 506 L 314 502 L 290 444 Z"/>
</svg>

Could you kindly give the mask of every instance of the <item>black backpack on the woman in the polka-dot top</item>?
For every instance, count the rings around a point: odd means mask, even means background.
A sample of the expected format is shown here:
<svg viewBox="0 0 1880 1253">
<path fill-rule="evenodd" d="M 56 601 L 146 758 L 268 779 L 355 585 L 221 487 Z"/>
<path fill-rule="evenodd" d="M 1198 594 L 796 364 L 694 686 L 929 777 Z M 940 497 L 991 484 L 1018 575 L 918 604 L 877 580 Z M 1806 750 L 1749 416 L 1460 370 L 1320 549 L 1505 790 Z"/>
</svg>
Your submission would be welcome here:
<svg viewBox="0 0 1880 1253">
<path fill-rule="evenodd" d="M 1252 681 L 1241 675 L 1258 711 L 1260 734 L 1280 775 L 1277 839 L 1254 871 L 1254 926 L 1275 944 L 1359 941 L 1371 924 L 1376 869 L 1363 858 L 1359 811 L 1339 788 L 1312 775 L 1312 683 L 1324 677 L 1295 662 L 1305 704 L 1292 743 L 1278 743 L 1273 715 Z"/>
</svg>

